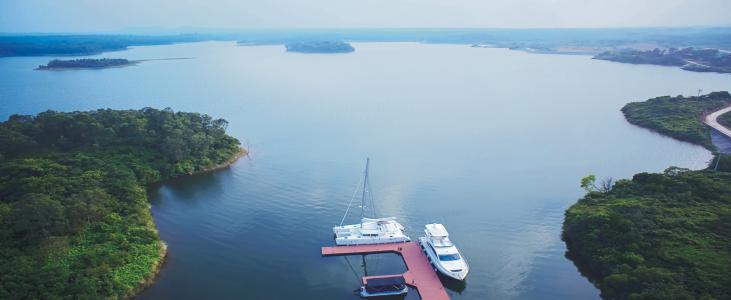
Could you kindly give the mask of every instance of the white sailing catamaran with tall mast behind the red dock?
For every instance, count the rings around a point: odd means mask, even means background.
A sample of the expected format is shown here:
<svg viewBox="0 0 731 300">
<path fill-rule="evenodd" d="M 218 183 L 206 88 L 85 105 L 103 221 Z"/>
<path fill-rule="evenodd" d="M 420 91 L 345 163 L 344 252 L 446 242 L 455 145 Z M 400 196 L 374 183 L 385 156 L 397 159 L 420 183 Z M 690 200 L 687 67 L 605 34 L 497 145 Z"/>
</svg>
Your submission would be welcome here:
<svg viewBox="0 0 731 300">
<path fill-rule="evenodd" d="M 353 199 L 355 199 L 355 194 L 357 193 L 356 190 L 356 193 L 353 193 L 353 197 L 348 204 L 348 209 L 345 211 L 343 219 L 340 221 L 340 226 L 333 227 L 333 233 L 335 233 L 335 244 L 338 246 L 400 243 L 408 242 L 411 240 L 411 238 L 404 234 L 404 226 L 397 222 L 395 217 L 366 217 L 366 205 L 370 204 L 371 208 L 374 207 L 373 197 L 369 190 L 369 165 L 370 159 L 366 159 L 365 175 L 363 178 L 363 191 L 360 200 L 360 223 L 343 225 L 343 222 L 345 221 L 345 218 L 348 216 L 348 212 L 350 211 L 350 207 L 353 204 Z M 371 211 L 372 214 L 375 216 L 375 209 L 371 209 Z"/>
</svg>

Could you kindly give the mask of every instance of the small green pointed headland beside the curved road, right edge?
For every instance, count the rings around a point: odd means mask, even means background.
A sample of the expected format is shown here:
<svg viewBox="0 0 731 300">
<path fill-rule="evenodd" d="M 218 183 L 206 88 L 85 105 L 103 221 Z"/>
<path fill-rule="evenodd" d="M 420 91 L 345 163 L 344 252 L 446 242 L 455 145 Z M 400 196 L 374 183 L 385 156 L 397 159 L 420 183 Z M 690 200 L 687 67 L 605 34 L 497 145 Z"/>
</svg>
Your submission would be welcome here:
<svg viewBox="0 0 731 300">
<path fill-rule="evenodd" d="M 622 112 L 632 124 L 714 150 L 711 131 L 701 122 L 701 116 L 728 104 L 728 92 L 713 92 L 700 97 L 665 96 L 632 102 Z"/>
</svg>

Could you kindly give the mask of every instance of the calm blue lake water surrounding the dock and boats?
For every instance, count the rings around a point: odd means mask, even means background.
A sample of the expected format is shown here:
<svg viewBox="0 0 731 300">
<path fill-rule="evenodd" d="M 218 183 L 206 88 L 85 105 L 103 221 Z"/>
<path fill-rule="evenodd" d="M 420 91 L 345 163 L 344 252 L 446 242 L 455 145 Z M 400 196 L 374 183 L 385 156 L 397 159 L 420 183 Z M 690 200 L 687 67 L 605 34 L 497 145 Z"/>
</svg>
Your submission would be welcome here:
<svg viewBox="0 0 731 300">
<path fill-rule="evenodd" d="M 357 299 L 360 256 L 320 256 L 371 157 L 383 216 L 417 237 L 442 222 L 471 265 L 452 299 L 592 299 L 564 257 L 563 212 L 582 176 L 627 178 L 710 153 L 628 124 L 619 109 L 728 90 L 731 77 L 466 45 L 357 43 L 352 54 L 210 42 L 98 57 L 106 70 L 34 71 L 0 59 L 0 118 L 146 106 L 208 113 L 251 155 L 151 190 L 169 260 L 141 299 Z M 355 222 L 355 218 L 350 221 Z M 369 255 L 368 273 L 403 271 Z M 409 299 L 416 299 L 410 293 Z"/>
</svg>

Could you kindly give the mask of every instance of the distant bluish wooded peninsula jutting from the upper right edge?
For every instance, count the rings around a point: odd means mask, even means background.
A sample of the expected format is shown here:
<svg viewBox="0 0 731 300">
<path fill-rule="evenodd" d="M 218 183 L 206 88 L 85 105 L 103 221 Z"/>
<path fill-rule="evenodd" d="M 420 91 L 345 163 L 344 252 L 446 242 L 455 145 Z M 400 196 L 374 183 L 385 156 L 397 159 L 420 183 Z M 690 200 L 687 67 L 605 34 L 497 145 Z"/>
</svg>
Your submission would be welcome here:
<svg viewBox="0 0 731 300">
<path fill-rule="evenodd" d="M 718 49 L 695 49 L 692 47 L 640 51 L 622 49 L 605 51 L 594 59 L 630 64 L 678 66 L 693 72 L 731 73 L 731 52 Z"/>
</svg>

